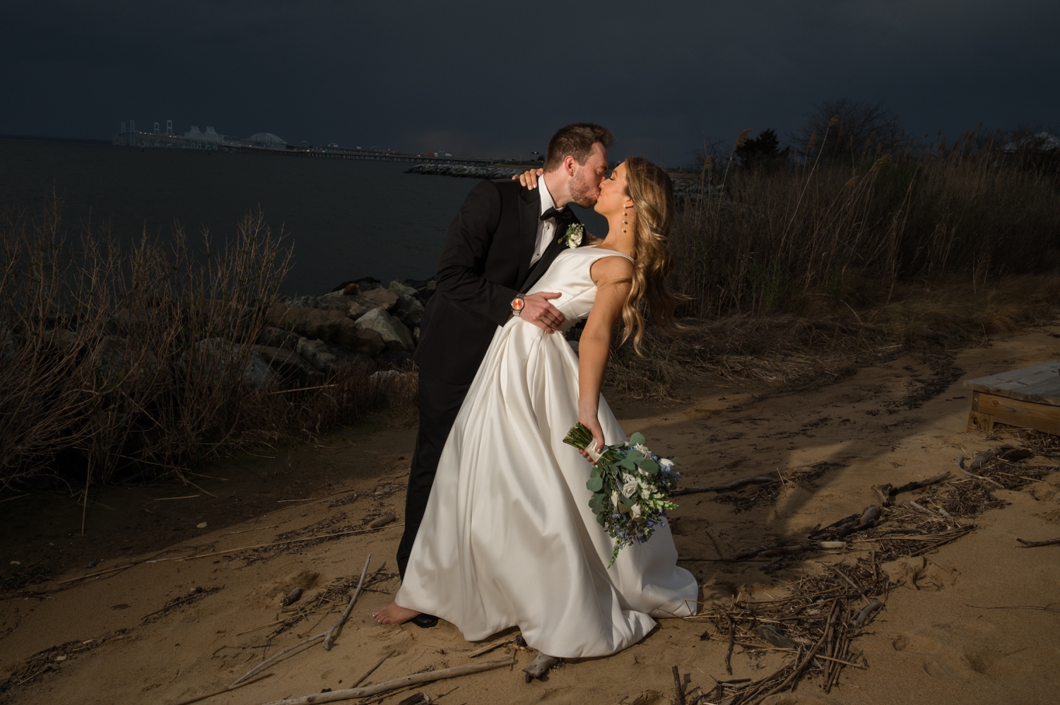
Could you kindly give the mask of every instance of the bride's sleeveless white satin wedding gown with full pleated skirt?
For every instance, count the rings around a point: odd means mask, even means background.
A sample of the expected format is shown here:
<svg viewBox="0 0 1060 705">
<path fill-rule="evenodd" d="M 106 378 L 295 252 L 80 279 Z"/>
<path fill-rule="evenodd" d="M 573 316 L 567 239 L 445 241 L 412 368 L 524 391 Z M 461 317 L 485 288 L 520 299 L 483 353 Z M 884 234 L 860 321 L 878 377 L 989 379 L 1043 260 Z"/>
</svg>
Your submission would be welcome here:
<svg viewBox="0 0 1060 705">
<path fill-rule="evenodd" d="M 531 289 L 560 292 L 567 329 L 596 298 L 591 264 L 562 252 Z M 629 259 L 629 258 L 628 258 Z M 626 440 L 603 398 L 608 444 Z M 668 526 L 621 550 L 597 524 L 590 465 L 563 442 L 578 421 L 578 356 L 561 334 L 512 317 L 497 329 L 449 433 L 394 601 L 454 623 L 471 641 L 518 627 L 556 657 L 604 656 L 639 641 L 652 616 L 695 613 L 695 578 L 676 566 Z"/>
</svg>

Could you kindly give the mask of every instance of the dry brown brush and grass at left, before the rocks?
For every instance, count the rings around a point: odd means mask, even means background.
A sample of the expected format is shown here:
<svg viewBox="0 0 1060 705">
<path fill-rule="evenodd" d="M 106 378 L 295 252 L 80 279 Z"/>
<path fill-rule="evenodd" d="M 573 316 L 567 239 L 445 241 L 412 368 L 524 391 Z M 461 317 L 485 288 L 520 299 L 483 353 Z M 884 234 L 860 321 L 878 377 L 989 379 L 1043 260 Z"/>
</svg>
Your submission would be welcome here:
<svg viewBox="0 0 1060 705">
<path fill-rule="evenodd" d="M 247 384 L 290 257 L 260 212 L 222 247 L 178 224 L 123 249 L 105 228 L 67 239 L 60 210 L 0 213 L 3 484 L 179 474 L 321 433 L 392 391 L 358 369 L 306 393 Z"/>
</svg>

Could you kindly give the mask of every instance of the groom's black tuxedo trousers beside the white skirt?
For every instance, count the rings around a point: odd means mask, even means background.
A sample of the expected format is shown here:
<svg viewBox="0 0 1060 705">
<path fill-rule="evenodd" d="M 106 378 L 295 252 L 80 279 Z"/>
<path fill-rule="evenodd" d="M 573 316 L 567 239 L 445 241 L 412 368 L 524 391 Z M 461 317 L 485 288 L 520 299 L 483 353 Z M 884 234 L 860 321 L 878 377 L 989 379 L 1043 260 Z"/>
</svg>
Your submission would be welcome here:
<svg viewBox="0 0 1060 705">
<path fill-rule="evenodd" d="M 438 459 L 470 388 L 471 382 L 452 384 L 420 370 L 420 429 L 416 435 L 416 451 L 405 494 L 405 533 L 398 545 L 398 571 L 403 580 L 416 534 L 427 509 L 427 499 L 430 498 Z"/>
</svg>

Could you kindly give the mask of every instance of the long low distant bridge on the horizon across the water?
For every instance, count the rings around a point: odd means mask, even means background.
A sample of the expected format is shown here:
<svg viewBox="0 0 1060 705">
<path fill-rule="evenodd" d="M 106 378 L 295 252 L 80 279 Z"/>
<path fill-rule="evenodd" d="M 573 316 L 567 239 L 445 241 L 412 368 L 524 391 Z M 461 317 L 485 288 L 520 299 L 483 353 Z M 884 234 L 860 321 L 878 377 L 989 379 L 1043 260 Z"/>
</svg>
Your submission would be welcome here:
<svg viewBox="0 0 1060 705">
<path fill-rule="evenodd" d="M 119 133 L 111 140 L 118 146 L 132 146 L 162 149 L 199 149 L 202 152 L 238 152 L 243 154 L 286 155 L 288 157 L 312 157 L 316 159 L 365 159 L 369 161 L 406 161 L 418 164 L 465 164 L 489 166 L 495 159 L 466 159 L 463 157 L 438 156 L 436 154 L 410 154 L 402 152 L 377 152 L 352 147 L 322 146 L 318 144 L 259 144 L 249 140 L 206 140 L 184 135 L 160 135 L 129 130 Z"/>
</svg>

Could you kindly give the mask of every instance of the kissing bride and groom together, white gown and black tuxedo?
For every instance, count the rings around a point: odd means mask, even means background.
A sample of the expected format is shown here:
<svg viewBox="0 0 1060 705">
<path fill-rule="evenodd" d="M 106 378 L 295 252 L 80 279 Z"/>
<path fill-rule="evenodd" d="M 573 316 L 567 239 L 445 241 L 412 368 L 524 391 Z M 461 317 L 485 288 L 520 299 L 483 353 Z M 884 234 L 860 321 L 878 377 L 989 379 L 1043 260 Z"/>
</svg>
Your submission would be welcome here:
<svg viewBox="0 0 1060 705">
<path fill-rule="evenodd" d="M 402 586 L 383 623 L 438 617 L 470 641 L 517 627 L 536 649 L 527 677 L 560 658 L 605 656 L 695 613 L 695 578 L 668 526 L 624 548 L 597 523 L 586 451 L 626 440 L 600 394 L 612 334 L 639 349 L 646 316 L 673 330 L 673 187 L 614 138 L 579 123 L 549 141 L 543 172 L 482 181 L 449 226 L 421 323 L 420 428 L 398 548 Z M 540 170 L 538 170 L 540 171 Z M 594 208 L 589 243 L 568 206 Z M 564 333 L 585 320 L 578 354 Z M 639 352 L 639 350 L 638 350 Z"/>
</svg>

